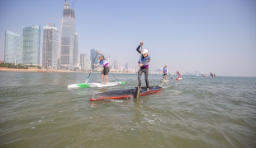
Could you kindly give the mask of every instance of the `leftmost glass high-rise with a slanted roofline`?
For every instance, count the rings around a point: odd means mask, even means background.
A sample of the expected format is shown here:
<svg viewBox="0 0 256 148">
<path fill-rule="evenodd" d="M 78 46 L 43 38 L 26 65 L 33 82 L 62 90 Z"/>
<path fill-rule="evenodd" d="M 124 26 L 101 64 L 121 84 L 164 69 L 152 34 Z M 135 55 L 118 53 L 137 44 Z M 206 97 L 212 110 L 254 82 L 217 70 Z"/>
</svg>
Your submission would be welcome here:
<svg viewBox="0 0 256 148">
<path fill-rule="evenodd" d="M 5 30 L 4 62 L 22 63 L 22 48 L 22 36 Z"/>
</svg>

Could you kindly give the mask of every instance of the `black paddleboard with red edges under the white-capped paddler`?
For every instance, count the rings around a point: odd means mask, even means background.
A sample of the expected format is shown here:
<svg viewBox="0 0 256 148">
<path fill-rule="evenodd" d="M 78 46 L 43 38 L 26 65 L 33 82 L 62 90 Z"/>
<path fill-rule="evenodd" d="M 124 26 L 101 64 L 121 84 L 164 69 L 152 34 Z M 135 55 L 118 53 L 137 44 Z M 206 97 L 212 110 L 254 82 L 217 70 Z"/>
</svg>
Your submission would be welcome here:
<svg viewBox="0 0 256 148">
<path fill-rule="evenodd" d="M 136 90 L 135 88 L 131 88 L 126 90 L 107 91 L 107 92 L 93 95 L 92 98 L 89 100 L 97 101 L 97 100 L 104 100 L 104 99 L 129 99 L 129 98 L 133 98 L 135 90 Z M 146 87 L 142 87 L 142 90 L 140 90 L 140 96 L 158 93 L 159 91 L 162 91 L 162 90 L 164 89 L 160 86 L 149 87 L 149 91 L 147 91 Z"/>
</svg>

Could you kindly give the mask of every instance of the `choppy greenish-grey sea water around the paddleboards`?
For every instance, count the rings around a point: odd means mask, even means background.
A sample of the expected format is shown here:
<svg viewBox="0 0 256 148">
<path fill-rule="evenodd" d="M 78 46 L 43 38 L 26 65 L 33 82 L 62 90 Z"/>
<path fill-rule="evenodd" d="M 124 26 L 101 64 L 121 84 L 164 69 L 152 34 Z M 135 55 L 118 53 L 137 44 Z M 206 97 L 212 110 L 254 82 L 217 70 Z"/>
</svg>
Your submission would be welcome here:
<svg viewBox="0 0 256 148">
<path fill-rule="evenodd" d="M 0 72 L 0 147 L 256 147 L 256 78 L 183 76 L 134 99 L 90 102 L 92 95 L 137 86 L 68 90 L 88 73 Z M 170 79 L 170 76 L 168 76 Z M 141 76 L 145 86 L 144 76 Z M 89 82 L 101 82 L 92 73 Z"/>
</svg>

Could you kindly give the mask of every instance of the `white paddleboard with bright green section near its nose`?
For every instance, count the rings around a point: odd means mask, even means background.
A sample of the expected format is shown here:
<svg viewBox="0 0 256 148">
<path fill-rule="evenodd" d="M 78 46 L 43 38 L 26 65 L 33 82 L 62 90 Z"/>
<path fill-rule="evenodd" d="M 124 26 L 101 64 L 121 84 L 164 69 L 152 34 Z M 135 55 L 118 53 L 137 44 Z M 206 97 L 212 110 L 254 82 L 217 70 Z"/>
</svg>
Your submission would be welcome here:
<svg viewBox="0 0 256 148">
<path fill-rule="evenodd" d="M 126 84 L 125 81 L 114 81 L 108 82 L 107 84 L 102 83 L 77 83 L 68 86 L 68 89 L 79 89 L 79 88 L 88 88 L 88 87 L 108 87 L 108 86 L 116 86 L 119 84 Z"/>
</svg>

